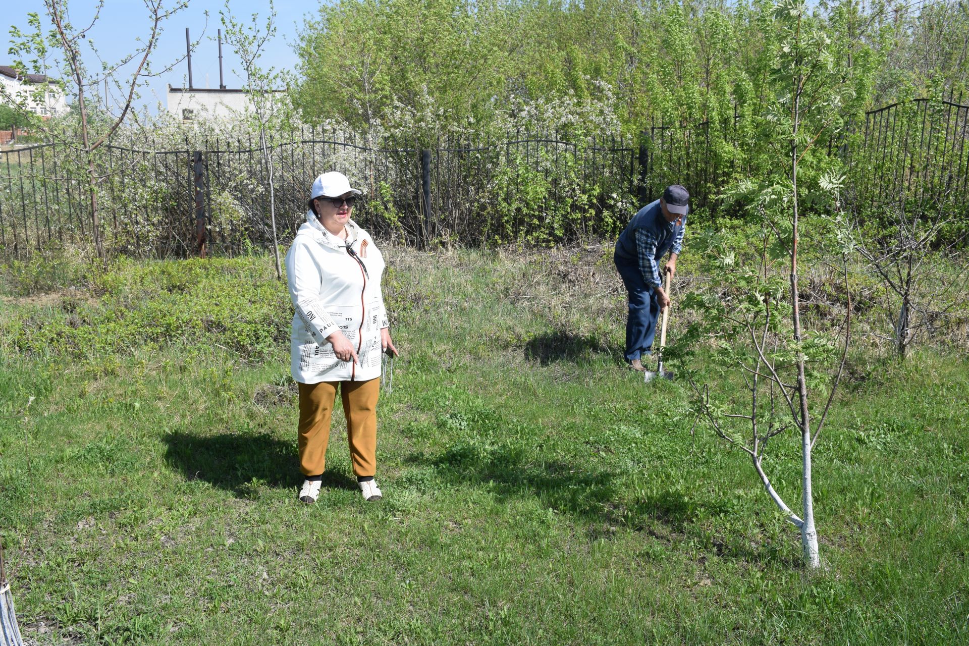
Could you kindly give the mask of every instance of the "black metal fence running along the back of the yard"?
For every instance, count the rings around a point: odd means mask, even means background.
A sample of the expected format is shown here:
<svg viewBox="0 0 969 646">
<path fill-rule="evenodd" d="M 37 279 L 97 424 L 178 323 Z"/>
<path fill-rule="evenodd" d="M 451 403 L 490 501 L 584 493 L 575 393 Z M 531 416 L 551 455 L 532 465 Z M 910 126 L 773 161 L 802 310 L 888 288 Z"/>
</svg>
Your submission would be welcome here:
<svg viewBox="0 0 969 646">
<path fill-rule="evenodd" d="M 844 160 L 848 194 L 862 207 L 966 212 L 967 131 L 969 106 L 917 100 L 867 112 L 863 127 L 823 145 Z M 0 254 L 91 243 L 88 159 L 76 140 L 61 133 L 0 151 Z M 270 165 L 255 136 L 183 146 L 115 138 L 91 166 L 109 251 L 185 257 L 271 244 L 270 169 L 283 244 L 303 222 L 313 178 L 327 170 L 361 188 L 355 219 L 384 239 L 554 244 L 616 234 L 670 183 L 690 190 L 695 210 L 717 210 L 724 187 L 763 172 L 754 145 L 735 113 L 692 127 L 653 124 L 635 142 L 523 132 L 374 140 L 308 128 L 275 134 Z"/>
</svg>

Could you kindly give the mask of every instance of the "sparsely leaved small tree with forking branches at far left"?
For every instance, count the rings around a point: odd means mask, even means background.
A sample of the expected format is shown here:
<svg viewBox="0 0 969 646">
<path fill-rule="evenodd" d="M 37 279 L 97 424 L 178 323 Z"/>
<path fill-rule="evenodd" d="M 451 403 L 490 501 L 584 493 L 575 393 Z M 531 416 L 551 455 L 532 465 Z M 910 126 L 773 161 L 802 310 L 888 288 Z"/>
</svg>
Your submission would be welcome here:
<svg viewBox="0 0 969 646">
<path fill-rule="evenodd" d="M 64 139 L 63 142 L 76 149 L 81 156 L 87 184 L 91 231 L 98 257 L 102 260 L 105 259 L 105 246 L 98 210 L 98 186 L 110 172 L 101 171 L 98 150 L 108 142 L 109 137 L 131 113 L 132 104 L 138 97 L 138 88 L 144 79 L 164 74 L 177 64 L 176 61 L 163 70 L 153 72 L 149 59 L 155 46 L 158 45 L 166 20 L 188 7 L 189 0 L 177 0 L 170 8 L 167 8 L 165 0 L 142 0 L 142 2 L 149 24 L 147 37 L 144 40 L 140 39 L 141 46 L 134 52 L 114 63 L 105 62 L 101 58 L 93 39 L 90 38 L 91 31 L 98 23 L 104 9 L 104 0 L 99 0 L 94 16 L 83 27 L 75 26 L 71 22 L 68 0 L 45 0 L 44 8 L 51 25 L 47 33 L 41 26 L 39 15 L 30 16 L 31 26 L 35 28 L 33 33 L 23 34 L 16 29 L 12 31 L 14 46 L 11 48 L 11 53 L 16 56 L 16 68 L 21 71 L 34 69 L 39 74 L 48 74 L 50 69 L 57 70 L 61 75 L 59 82 L 75 98 L 80 141 Z M 83 43 L 86 43 L 91 53 L 101 61 L 102 69 L 99 72 L 90 71 L 84 64 L 81 52 Z M 34 56 L 34 58 L 25 62 L 25 56 Z M 134 69 L 131 66 L 134 66 Z M 98 93 L 102 86 L 113 87 L 120 98 L 111 102 L 107 89 L 104 96 L 99 97 Z M 15 105 L 18 109 L 27 109 L 26 102 L 22 100 L 15 102 Z M 52 131 L 46 134 L 58 137 L 58 134 Z"/>
</svg>

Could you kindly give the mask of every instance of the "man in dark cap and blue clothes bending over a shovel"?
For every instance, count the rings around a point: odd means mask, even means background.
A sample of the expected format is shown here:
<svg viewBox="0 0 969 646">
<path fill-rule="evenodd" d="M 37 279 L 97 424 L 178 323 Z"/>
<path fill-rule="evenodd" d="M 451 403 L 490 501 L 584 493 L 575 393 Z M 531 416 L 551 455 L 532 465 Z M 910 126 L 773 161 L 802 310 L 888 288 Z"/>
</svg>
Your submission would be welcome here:
<svg viewBox="0 0 969 646">
<path fill-rule="evenodd" d="M 629 292 L 626 320 L 626 360 L 644 371 L 642 356 L 652 354 L 656 320 L 670 296 L 663 291 L 657 262 L 670 252 L 664 269 L 676 273 L 676 259 L 683 248 L 683 229 L 690 194 L 679 184 L 668 186 L 663 197 L 643 206 L 629 221 L 615 243 L 612 261 Z"/>
</svg>

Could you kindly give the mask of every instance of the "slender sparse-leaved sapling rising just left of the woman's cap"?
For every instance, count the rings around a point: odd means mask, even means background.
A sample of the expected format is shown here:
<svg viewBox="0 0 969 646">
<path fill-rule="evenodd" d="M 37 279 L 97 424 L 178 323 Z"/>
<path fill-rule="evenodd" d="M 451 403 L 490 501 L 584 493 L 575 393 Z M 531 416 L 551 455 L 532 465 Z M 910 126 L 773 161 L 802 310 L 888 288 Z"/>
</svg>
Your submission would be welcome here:
<svg viewBox="0 0 969 646">
<path fill-rule="evenodd" d="M 275 164 L 273 162 L 274 146 L 272 134 L 284 128 L 292 118 L 292 111 L 288 98 L 280 92 L 281 86 L 286 84 L 287 78 L 274 68 L 264 69 L 259 60 L 266 50 L 266 45 L 276 35 L 276 10 L 272 0 L 266 15 L 266 24 L 259 25 L 259 15 L 253 14 L 252 19 L 243 24 L 235 18 L 226 0 L 225 9 L 220 12 L 222 26 L 226 30 L 226 43 L 232 46 L 242 61 L 242 73 L 245 83 L 242 87 L 249 97 L 252 107 L 253 126 L 259 132 L 259 146 L 263 157 L 263 167 L 266 169 L 266 180 L 269 188 L 269 222 L 272 226 L 272 253 L 276 261 L 276 277 L 283 277 L 282 264 L 279 260 L 279 238 L 276 233 L 276 187 Z"/>
</svg>

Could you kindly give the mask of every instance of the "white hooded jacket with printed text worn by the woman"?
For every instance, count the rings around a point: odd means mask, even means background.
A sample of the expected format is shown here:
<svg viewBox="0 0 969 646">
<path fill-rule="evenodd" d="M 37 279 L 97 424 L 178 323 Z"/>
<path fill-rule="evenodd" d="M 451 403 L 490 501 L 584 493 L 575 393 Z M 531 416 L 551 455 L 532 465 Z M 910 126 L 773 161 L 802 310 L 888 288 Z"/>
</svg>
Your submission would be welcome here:
<svg viewBox="0 0 969 646">
<path fill-rule="evenodd" d="M 364 382 L 380 377 L 380 330 L 390 325 L 380 280 L 384 257 L 353 220 L 347 239 L 327 231 L 312 211 L 286 254 L 293 379 L 302 384 Z M 351 255 L 348 249 L 353 250 Z M 341 361 L 327 337 L 336 330 L 353 344 L 359 363 Z"/>
</svg>

